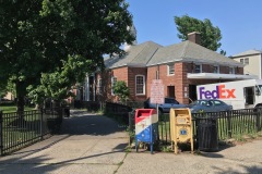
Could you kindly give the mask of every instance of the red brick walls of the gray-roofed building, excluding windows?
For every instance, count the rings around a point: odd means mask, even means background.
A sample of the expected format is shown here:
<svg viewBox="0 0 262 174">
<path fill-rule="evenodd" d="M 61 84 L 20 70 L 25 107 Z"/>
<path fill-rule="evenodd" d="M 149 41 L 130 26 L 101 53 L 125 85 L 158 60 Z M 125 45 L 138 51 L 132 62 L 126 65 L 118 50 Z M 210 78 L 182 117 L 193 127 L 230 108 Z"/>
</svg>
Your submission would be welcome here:
<svg viewBox="0 0 262 174">
<path fill-rule="evenodd" d="M 103 95 L 99 99 L 104 101 L 118 101 L 116 96 L 111 96 L 111 77 L 117 77 L 117 80 L 124 80 L 130 89 L 130 100 L 144 101 L 151 96 L 151 84 L 153 79 L 156 79 L 156 72 L 159 70 L 159 79 L 163 80 L 164 96 L 168 96 L 168 86 L 175 87 L 176 99 L 181 103 L 189 103 L 189 85 L 203 85 L 212 83 L 221 83 L 228 80 L 221 79 L 188 79 L 187 74 L 193 72 L 193 63 L 177 62 L 175 63 L 175 75 L 168 75 L 167 65 L 155 65 L 150 67 L 118 67 L 104 72 L 102 75 L 97 74 L 96 80 L 103 78 Z M 213 73 L 213 65 L 202 64 L 202 70 L 205 73 Z M 222 74 L 228 74 L 228 66 L 219 66 Z M 236 67 L 236 74 L 243 74 L 242 67 Z M 145 76 L 145 95 L 135 95 L 135 75 Z M 98 98 L 98 96 L 97 96 Z"/>
</svg>

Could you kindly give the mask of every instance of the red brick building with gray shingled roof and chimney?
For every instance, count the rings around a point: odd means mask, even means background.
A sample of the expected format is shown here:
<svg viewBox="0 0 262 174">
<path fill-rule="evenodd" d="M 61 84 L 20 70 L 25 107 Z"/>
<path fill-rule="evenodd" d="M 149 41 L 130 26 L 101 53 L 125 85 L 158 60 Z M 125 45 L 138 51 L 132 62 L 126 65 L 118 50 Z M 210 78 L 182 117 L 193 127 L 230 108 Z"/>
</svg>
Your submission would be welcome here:
<svg viewBox="0 0 262 174">
<path fill-rule="evenodd" d="M 198 45 L 198 33 L 189 34 L 189 40 L 168 47 L 147 41 L 130 47 L 122 58 L 105 59 L 106 72 L 87 76 L 84 100 L 117 101 L 111 86 L 124 80 L 130 100 L 144 101 L 158 75 L 165 96 L 187 104 L 196 99 L 196 85 L 254 77 L 243 75 L 242 63 Z"/>
</svg>

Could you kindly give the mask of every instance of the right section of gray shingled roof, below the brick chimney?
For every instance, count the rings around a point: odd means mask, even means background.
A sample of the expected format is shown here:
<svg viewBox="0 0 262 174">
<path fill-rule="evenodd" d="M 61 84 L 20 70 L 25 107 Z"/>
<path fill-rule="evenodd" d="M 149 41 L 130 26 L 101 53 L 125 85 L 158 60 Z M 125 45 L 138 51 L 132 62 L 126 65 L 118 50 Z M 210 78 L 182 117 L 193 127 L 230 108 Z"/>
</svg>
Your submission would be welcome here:
<svg viewBox="0 0 262 174">
<path fill-rule="evenodd" d="M 159 48 L 147 63 L 147 66 L 176 61 L 243 66 L 243 64 L 235 60 L 188 40 Z"/>
</svg>

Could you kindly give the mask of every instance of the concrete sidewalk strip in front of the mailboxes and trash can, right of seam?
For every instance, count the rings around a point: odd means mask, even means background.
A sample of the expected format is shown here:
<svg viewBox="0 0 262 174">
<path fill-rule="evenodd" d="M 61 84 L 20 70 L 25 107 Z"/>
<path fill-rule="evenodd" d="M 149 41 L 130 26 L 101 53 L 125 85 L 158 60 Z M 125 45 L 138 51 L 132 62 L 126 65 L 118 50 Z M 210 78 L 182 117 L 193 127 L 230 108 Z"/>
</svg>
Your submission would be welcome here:
<svg viewBox="0 0 262 174">
<path fill-rule="evenodd" d="M 118 174 L 262 173 L 262 140 L 227 148 L 218 152 L 129 153 Z"/>
</svg>

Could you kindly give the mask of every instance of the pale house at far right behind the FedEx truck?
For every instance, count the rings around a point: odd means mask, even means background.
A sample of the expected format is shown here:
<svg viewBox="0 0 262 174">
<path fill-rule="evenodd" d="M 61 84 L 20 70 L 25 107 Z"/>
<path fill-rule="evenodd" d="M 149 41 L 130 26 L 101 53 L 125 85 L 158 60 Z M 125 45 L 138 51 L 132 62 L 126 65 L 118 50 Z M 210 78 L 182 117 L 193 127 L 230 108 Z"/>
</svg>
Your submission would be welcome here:
<svg viewBox="0 0 262 174">
<path fill-rule="evenodd" d="M 262 51 L 248 50 L 230 57 L 245 65 L 243 74 L 255 75 L 262 78 Z"/>
</svg>

